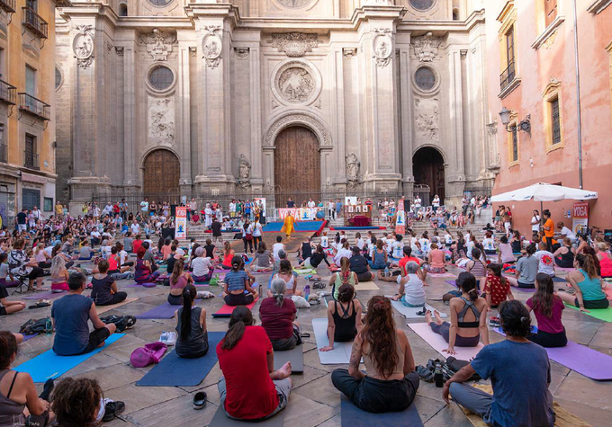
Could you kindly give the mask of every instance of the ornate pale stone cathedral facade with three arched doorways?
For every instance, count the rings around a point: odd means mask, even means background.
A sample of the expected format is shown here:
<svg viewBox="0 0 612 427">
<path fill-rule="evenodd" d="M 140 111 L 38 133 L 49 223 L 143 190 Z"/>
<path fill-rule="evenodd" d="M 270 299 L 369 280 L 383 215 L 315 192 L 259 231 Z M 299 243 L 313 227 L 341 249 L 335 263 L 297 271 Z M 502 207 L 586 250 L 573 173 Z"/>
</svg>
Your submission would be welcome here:
<svg viewBox="0 0 612 427">
<path fill-rule="evenodd" d="M 482 0 L 61 8 L 58 200 L 488 188 Z M 277 204 L 281 204 L 277 201 Z"/>
</svg>

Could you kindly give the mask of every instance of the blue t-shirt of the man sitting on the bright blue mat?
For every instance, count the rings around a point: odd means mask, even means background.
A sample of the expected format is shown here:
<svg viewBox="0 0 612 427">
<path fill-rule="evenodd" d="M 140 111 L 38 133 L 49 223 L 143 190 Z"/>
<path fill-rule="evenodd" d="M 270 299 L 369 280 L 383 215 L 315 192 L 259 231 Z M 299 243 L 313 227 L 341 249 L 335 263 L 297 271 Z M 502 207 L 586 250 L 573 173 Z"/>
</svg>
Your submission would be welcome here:
<svg viewBox="0 0 612 427">
<path fill-rule="evenodd" d="M 59 356 L 72 356 L 85 351 L 89 343 L 89 310 L 92 298 L 71 294 L 59 298 L 51 307 L 55 320 L 53 351 Z"/>
</svg>

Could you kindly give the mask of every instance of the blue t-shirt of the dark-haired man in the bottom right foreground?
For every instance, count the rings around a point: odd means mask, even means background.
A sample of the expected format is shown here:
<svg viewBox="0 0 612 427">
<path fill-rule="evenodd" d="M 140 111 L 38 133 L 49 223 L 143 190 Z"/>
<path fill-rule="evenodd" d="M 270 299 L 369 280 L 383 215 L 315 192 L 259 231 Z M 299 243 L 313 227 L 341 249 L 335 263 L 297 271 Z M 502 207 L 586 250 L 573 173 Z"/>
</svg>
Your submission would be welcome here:
<svg viewBox="0 0 612 427">
<path fill-rule="evenodd" d="M 483 379 L 491 378 L 493 401 L 485 423 L 496 427 L 552 427 L 546 405 L 551 381 L 545 349 L 534 342 L 502 341 L 485 346 L 472 360 Z"/>
</svg>

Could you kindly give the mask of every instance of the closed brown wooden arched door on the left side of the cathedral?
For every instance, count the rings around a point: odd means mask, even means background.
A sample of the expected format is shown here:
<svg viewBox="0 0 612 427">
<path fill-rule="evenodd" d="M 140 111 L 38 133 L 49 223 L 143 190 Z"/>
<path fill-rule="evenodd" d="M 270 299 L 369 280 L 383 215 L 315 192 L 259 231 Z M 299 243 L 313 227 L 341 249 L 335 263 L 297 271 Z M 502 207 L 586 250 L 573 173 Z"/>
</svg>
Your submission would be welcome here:
<svg viewBox="0 0 612 427">
<path fill-rule="evenodd" d="M 172 151 L 158 149 L 151 151 L 145 158 L 143 167 L 143 191 L 145 197 L 156 200 L 178 197 L 178 182 L 181 177 L 181 165 Z M 167 200 L 176 202 L 176 200 Z"/>
</svg>

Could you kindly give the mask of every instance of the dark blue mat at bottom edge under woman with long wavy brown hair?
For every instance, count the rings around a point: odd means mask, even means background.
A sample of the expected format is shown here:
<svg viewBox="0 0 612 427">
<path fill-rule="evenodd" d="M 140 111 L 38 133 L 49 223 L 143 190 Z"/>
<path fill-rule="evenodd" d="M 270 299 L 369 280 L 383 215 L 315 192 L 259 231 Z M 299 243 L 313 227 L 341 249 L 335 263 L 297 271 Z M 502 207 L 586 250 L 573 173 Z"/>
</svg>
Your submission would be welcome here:
<svg viewBox="0 0 612 427">
<path fill-rule="evenodd" d="M 419 411 L 414 404 L 397 413 L 372 414 L 353 405 L 345 395 L 342 395 L 340 403 L 340 420 L 342 427 L 423 427 Z"/>
</svg>

